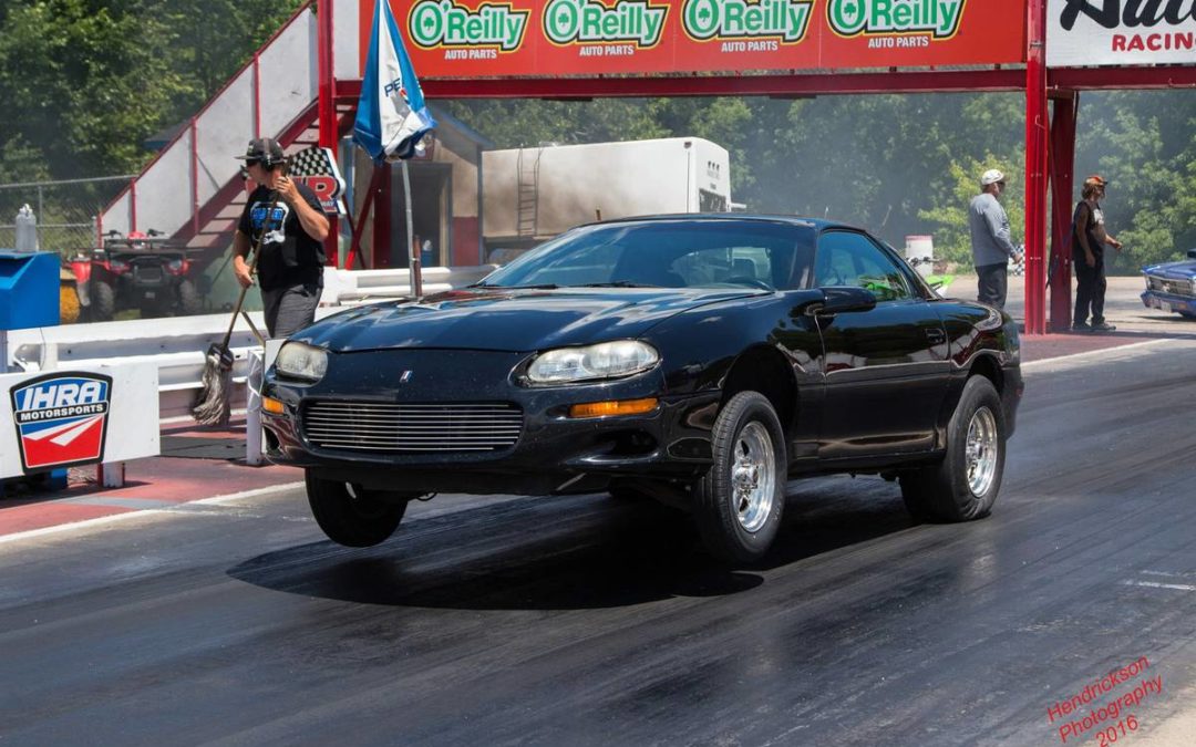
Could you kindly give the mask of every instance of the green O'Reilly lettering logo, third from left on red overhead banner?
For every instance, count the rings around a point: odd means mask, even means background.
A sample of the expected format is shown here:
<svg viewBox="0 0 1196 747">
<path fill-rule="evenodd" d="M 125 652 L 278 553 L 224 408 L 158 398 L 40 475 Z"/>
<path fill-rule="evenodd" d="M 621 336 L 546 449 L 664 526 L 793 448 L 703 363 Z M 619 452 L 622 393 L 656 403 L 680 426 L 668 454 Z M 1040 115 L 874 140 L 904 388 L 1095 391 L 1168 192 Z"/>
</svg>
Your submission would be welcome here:
<svg viewBox="0 0 1196 747">
<path fill-rule="evenodd" d="M 813 0 L 687 0 L 682 25 L 690 38 L 775 37 L 800 42 L 810 27 Z"/>
</svg>

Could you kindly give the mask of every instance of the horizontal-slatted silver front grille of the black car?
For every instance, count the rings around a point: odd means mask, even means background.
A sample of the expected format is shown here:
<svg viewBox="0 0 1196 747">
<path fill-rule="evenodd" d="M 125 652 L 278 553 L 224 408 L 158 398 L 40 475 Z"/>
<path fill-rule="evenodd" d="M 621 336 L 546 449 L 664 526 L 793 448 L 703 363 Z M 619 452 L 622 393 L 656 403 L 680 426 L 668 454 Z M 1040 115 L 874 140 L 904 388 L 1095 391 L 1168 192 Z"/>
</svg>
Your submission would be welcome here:
<svg viewBox="0 0 1196 747">
<path fill-rule="evenodd" d="M 355 452 L 493 452 L 519 440 L 523 410 L 509 403 L 388 404 L 311 402 L 303 435 L 313 446 Z"/>
</svg>

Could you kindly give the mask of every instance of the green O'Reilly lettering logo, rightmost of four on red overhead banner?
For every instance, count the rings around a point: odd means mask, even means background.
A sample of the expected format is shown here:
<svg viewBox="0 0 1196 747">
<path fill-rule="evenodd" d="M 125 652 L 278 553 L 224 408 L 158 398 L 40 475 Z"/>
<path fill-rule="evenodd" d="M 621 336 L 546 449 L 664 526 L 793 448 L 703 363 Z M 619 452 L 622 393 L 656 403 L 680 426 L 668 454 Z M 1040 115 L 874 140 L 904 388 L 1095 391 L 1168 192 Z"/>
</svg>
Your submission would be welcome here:
<svg viewBox="0 0 1196 747">
<path fill-rule="evenodd" d="M 826 20 L 840 36 L 917 33 L 950 38 L 959 30 L 965 0 L 829 0 Z"/>
</svg>

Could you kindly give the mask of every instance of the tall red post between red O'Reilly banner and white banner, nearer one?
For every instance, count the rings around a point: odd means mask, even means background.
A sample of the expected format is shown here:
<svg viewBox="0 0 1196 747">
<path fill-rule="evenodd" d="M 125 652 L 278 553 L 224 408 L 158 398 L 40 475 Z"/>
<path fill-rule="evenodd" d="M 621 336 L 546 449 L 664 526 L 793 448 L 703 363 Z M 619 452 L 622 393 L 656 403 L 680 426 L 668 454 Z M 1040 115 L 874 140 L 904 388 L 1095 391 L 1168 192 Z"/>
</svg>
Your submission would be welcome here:
<svg viewBox="0 0 1196 747">
<path fill-rule="evenodd" d="M 1046 331 L 1046 0 L 1026 6 L 1026 305 L 1025 332 Z"/>
</svg>

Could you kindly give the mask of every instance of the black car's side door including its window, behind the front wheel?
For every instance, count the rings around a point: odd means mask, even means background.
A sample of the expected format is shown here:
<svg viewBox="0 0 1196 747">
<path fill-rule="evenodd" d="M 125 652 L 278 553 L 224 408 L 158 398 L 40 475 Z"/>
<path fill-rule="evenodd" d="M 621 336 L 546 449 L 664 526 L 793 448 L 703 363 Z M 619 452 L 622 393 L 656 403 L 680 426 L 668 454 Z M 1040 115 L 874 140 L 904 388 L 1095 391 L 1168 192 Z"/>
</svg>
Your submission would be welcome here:
<svg viewBox="0 0 1196 747">
<path fill-rule="evenodd" d="M 824 459 L 928 451 L 947 386 L 946 332 L 933 304 L 902 261 L 862 232 L 818 237 L 816 287 L 866 288 L 869 311 L 819 316 L 825 399 L 819 434 Z"/>
</svg>

